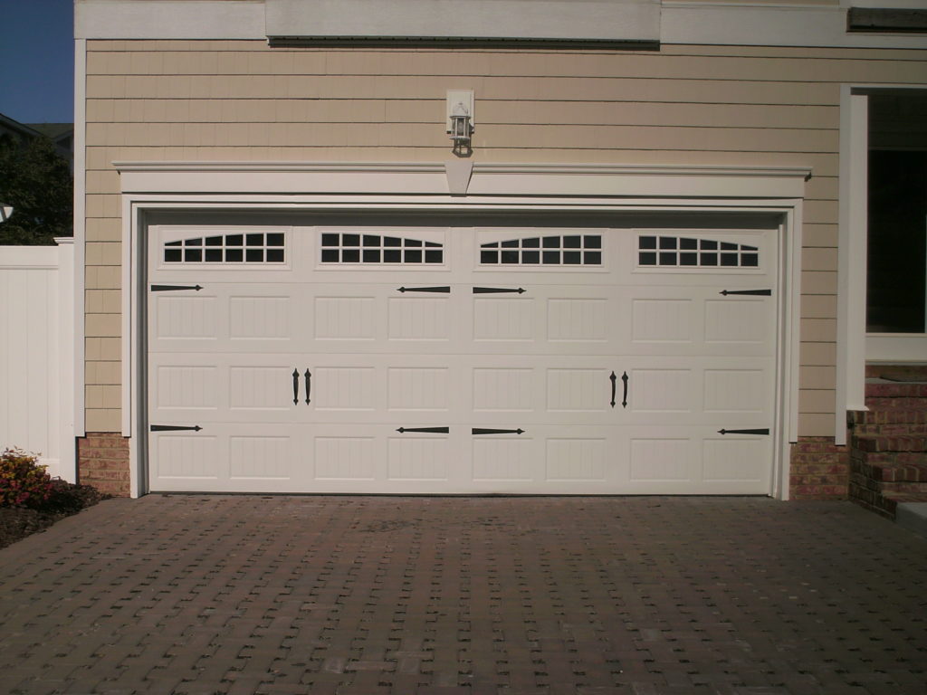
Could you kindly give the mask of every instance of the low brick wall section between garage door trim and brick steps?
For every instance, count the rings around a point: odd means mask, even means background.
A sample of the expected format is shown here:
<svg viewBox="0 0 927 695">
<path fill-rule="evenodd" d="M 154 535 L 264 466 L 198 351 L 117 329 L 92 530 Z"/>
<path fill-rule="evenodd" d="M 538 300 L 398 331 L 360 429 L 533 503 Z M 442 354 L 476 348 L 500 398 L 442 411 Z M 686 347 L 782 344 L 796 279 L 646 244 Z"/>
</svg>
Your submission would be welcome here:
<svg viewBox="0 0 927 695">
<path fill-rule="evenodd" d="M 792 499 L 846 499 L 850 484 L 848 447 L 828 436 L 800 436 L 792 445 Z"/>
</svg>

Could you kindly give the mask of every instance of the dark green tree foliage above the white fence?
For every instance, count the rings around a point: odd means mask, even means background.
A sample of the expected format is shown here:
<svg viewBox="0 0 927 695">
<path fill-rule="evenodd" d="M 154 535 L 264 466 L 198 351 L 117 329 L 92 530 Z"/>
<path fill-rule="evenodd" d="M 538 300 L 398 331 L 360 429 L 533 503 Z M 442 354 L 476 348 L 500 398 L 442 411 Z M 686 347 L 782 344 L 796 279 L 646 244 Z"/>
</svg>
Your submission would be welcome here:
<svg viewBox="0 0 927 695">
<path fill-rule="evenodd" d="M 13 207 L 0 222 L 0 244 L 53 245 L 73 234 L 72 191 L 70 165 L 51 140 L 0 138 L 0 203 Z"/>
</svg>

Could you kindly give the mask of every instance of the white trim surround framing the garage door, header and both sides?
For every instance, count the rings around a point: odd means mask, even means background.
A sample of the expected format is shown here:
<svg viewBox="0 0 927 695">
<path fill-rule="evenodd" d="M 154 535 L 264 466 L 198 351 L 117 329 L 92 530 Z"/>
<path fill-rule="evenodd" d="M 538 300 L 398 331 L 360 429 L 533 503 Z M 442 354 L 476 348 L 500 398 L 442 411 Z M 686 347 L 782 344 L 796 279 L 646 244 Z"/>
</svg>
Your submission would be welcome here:
<svg viewBox="0 0 927 695">
<path fill-rule="evenodd" d="M 475 165 L 471 195 L 453 196 L 441 164 L 337 165 L 121 162 L 123 230 L 123 434 L 144 424 L 144 317 L 140 274 L 146 214 L 341 212 L 706 211 L 781 218 L 781 302 L 776 457 L 770 494 L 788 498 L 789 443 L 797 438 L 798 315 L 805 170 Z M 261 173 L 261 171 L 263 173 Z M 741 172 L 741 176 L 735 173 Z M 307 183 L 311 184 L 307 186 Z M 313 187 L 314 186 L 314 187 Z M 274 191 L 273 189 L 277 190 Z M 315 191 L 306 194 L 307 190 Z M 723 196 L 739 191 L 743 195 Z M 474 195 L 479 191 L 478 195 Z M 581 191 L 581 194 L 578 193 Z M 638 192 L 648 191 L 648 196 Z M 762 194 L 758 192 L 762 191 Z M 631 195 L 635 192 L 637 195 Z M 746 195 L 746 194 L 751 195 Z M 799 194 L 799 195 L 796 195 Z M 142 400 L 140 400 L 142 398 Z M 145 492 L 144 437 L 133 437 L 132 494 Z"/>
</svg>

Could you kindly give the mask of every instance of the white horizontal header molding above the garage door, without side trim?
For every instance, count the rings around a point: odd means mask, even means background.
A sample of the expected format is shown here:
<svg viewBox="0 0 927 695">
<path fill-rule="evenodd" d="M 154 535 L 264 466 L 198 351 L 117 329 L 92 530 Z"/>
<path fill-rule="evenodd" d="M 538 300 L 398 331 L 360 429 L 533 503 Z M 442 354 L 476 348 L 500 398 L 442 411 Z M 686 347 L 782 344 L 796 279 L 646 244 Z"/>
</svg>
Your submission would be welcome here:
<svg viewBox="0 0 927 695">
<path fill-rule="evenodd" d="M 811 172 L 790 167 L 474 162 L 118 161 L 124 194 L 179 196 L 540 196 L 802 198 Z"/>
</svg>

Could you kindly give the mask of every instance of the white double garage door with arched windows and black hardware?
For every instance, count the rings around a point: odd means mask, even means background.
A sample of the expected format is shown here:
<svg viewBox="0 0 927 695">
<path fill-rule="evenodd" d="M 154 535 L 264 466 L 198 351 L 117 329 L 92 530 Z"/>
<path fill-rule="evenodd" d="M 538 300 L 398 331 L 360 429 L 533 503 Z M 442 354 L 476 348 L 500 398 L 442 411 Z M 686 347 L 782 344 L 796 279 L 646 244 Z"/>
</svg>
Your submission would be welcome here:
<svg viewBox="0 0 927 695">
<path fill-rule="evenodd" d="M 153 491 L 769 492 L 774 231 L 149 232 Z"/>
</svg>

